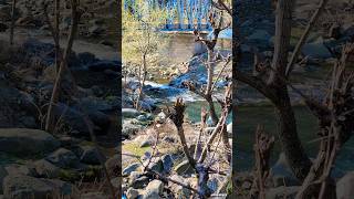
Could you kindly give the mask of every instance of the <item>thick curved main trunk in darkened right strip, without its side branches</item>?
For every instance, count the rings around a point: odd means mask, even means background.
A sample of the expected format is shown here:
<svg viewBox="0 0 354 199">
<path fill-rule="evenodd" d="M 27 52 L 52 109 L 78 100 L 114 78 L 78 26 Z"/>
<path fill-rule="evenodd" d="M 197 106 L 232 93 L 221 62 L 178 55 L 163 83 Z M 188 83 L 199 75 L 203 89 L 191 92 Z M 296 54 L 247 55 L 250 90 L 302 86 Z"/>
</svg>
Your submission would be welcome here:
<svg viewBox="0 0 354 199">
<path fill-rule="evenodd" d="M 278 0 L 275 17 L 274 56 L 268 84 L 275 91 L 273 101 L 280 117 L 279 137 L 289 165 L 294 175 L 303 180 L 311 167 L 311 161 L 304 153 L 299 139 L 296 121 L 285 78 L 288 52 L 291 38 L 292 11 L 294 0 Z"/>
</svg>

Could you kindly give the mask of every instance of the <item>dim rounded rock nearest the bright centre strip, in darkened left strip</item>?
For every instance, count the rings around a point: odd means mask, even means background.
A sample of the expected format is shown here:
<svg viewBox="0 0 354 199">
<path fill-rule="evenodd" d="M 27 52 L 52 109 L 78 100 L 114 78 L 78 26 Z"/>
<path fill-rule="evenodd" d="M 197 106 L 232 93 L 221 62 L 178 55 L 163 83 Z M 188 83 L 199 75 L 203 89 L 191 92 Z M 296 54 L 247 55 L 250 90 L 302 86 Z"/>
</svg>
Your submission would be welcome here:
<svg viewBox="0 0 354 199">
<path fill-rule="evenodd" d="M 101 160 L 105 161 L 105 157 L 97 148 L 93 146 L 83 146 L 83 153 L 80 157 L 80 161 L 88 165 L 100 165 Z"/>
</svg>

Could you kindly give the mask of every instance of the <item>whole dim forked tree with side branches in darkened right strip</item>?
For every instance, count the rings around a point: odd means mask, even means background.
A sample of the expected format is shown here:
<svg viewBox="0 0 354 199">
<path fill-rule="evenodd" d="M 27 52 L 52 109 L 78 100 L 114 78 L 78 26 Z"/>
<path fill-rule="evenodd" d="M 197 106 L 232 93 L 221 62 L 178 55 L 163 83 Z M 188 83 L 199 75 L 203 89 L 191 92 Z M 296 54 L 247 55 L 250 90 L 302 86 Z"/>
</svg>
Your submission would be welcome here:
<svg viewBox="0 0 354 199">
<path fill-rule="evenodd" d="M 298 136 L 296 121 L 294 111 L 291 105 L 289 88 L 290 82 L 288 81 L 294 62 L 296 61 L 299 51 L 309 35 L 312 25 L 319 18 L 322 9 L 327 1 L 321 1 L 320 7 L 313 13 L 308 28 L 305 29 L 301 40 L 298 42 L 292 59 L 288 62 L 292 11 L 294 1 L 292 0 L 278 0 L 277 2 L 277 17 L 275 17 L 275 38 L 274 38 L 274 55 L 270 67 L 261 69 L 257 75 L 250 75 L 233 67 L 235 78 L 248 84 L 262 93 L 275 106 L 280 117 L 280 132 L 279 137 L 282 149 L 287 156 L 289 164 L 292 167 L 294 175 L 303 180 L 311 167 L 311 161 L 303 150 L 301 142 Z M 291 86 L 294 88 L 293 86 Z M 310 97 L 302 95 L 309 107 L 317 106 Z"/>
</svg>

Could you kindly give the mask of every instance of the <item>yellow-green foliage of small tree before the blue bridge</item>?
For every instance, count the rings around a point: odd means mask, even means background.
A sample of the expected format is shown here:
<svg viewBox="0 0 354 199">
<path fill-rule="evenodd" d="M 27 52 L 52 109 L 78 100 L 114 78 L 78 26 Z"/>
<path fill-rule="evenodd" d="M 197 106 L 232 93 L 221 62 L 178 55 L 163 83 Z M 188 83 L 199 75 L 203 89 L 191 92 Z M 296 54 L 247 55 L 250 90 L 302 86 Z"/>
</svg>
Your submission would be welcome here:
<svg viewBox="0 0 354 199">
<path fill-rule="evenodd" d="M 149 9 L 145 1 L 136 1 L 132 9 L 123 9 L 123 48 L 122 55 L 125 65 L 134 67 L 143 64 L 146 55 L 148 67 L 160 65 L 166 48 L 167 36 L 158 32 L 166 19 L 167 12 L 163 9 Z"/>
</svg>

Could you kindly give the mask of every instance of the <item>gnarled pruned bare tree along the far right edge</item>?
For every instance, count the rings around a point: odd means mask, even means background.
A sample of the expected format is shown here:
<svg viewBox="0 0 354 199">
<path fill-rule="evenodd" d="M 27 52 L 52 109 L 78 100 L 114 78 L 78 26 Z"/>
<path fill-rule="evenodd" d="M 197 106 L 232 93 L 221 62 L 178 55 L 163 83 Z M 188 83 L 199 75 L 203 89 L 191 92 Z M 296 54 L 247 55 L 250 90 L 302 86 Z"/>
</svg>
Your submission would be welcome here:
<svg viewBox="0 0 354 199">
<path fill-rule="evenodd" d="M 336 155 L 354 130 L 354 73 L 346 70 L 347 57 L 353 52 L 354 43 L 344 45 L 333 67 L 327 95 L 321 106 L 312 109 L 320 121 L 320 149 L 298 199 L 335 198 L 330 174 Z"/>
</svg>

